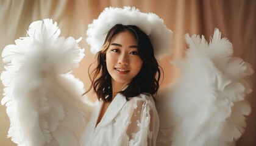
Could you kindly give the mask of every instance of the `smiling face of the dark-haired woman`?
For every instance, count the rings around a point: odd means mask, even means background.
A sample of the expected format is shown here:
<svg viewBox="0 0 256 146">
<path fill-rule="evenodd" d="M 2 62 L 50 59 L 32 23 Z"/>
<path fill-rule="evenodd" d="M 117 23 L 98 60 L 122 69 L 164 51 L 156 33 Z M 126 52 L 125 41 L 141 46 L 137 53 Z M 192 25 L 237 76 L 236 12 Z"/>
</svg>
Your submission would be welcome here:
<svg viewBox="0 0 256 146">
<path fill-rule="evenodd" d="M 125 30 L 113 36 L 106 53 L 106 63 L 112 85 L 124 87 L 140 72 L 143 61 L 131 32 Z"/>
</svg>

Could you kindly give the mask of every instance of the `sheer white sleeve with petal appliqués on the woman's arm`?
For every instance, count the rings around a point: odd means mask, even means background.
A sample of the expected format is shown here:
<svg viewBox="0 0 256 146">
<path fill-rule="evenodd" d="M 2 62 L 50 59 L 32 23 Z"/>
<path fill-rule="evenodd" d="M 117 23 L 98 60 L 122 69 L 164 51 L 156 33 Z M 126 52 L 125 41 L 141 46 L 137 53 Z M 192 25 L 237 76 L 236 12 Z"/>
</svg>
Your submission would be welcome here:
<svg viewBox="0 0 256 146">
<path fill-rule="evenodd" d="M 133 97 L 115 119 L 113 145 L 155 145 L 159 120 L 154 103 Z"/>
</svg>

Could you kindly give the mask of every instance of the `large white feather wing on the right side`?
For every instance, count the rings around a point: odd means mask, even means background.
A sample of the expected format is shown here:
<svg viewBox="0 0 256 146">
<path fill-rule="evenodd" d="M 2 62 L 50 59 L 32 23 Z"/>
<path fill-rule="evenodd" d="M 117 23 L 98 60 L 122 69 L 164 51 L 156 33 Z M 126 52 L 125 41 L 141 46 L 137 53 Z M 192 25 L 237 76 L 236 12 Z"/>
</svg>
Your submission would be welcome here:
<svg viewBox="0 0 256 146">
<path fill-rule="evenodd" d="M 218 29 L 209 44 L 204 36 L 185 38 L 190 49 L 176 61 L 180 77 L 158 95 L 164 101 L 158 110 L 169 111 L 160 113 L 160 129 L 173 128 L 172 146 L 235 145 L 246 127 L 245 116 L 251 113 L 245 99 L 251 92 L 246 78 L 254 71 L 233 57 L 232 44 L 221 38 Z"/>
</svg>

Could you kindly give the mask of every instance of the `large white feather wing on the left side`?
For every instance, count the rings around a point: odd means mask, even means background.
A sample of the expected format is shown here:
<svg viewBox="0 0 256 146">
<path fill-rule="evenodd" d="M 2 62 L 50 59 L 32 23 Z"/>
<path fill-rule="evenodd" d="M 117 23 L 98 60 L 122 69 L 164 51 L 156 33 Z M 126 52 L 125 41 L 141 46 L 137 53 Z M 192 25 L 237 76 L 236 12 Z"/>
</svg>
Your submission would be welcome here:
<svg viewBox="0 0 256 146">
<path fill-rule="evenodd" d="M 70 73 L 84 57 L 79 40 L 59 37 L 52 19 L 30 24 L 27 36 L 2 52 L 2 105 L 10 117 L 9 137 L 18 145 L 79 145 L 90 116 L 84 85 Z"/>
</svg>

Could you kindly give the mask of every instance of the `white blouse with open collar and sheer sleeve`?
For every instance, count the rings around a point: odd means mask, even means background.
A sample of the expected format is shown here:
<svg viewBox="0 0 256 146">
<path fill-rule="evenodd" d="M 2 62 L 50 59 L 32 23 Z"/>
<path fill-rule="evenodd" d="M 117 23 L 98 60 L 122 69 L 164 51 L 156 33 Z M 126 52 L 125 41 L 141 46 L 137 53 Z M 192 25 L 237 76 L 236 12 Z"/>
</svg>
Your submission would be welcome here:
<svg viewBox="0 0 256 146">
<path fill-rule="evenodd" d="M 96 103 L 81 145 L 155 145 L 159 119 L 150 95 L 140 94 L 127 101 L 118 94 L 96 126 L 102 103 Z"/>
</svg>

